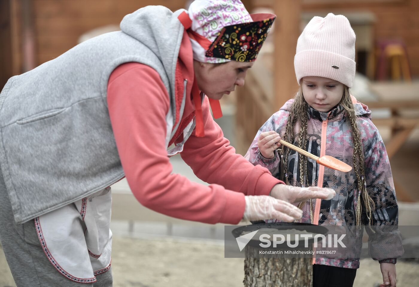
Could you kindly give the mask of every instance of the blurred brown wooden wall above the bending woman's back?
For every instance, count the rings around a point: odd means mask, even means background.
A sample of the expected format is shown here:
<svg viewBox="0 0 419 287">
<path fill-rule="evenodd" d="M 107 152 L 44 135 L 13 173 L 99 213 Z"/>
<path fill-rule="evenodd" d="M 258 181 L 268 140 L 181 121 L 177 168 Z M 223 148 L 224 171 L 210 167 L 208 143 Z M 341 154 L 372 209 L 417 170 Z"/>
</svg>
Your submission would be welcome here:
<svg viewBox="0 0 419 287">
<path fill-rule="evenodd" d="M 163 5 L 171 10 L 185 8 L 186 0 L 0 0 L 0 88 L 6 80 L 47 62 L 78 44 L 91 29 L 119 26 L 124 15 L 147 5 Z M 29 22 L 23 21 L 29 12 Z M 24 27 L 26 27 L 26 32 Z M 29 29 L 28 29 L 29 28 Z M 28 31 L 29 30 L 29 31 Z M 25 41 L 25 33 L 34 41 Z M 26 38 L 27 39 L 27 38 Z M 5 45 L 3 45 L 5 43 Z M 28 54 L 33 67 L 24 67 Z M 30 62 L 30 61 L 29 61 Z M 1 90 L 1 89 L 0 89 Z"/>
</svg>

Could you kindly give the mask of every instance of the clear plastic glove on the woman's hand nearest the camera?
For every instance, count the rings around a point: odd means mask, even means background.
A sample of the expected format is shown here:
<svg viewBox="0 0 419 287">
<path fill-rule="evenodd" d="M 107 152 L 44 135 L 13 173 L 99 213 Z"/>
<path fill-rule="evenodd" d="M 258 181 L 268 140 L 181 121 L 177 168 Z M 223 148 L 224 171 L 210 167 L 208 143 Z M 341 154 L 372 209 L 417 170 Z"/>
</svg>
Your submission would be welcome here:
<svg viewBox="0 0 419 287">
<path fill-rule="evenodd" d="M 246 208 L 243 220 L 264 220 L 276 218 L 292 222 L 303 216 L 303 211 L 283 200 L 277 200 L 267 195 L 248 195 L 244 197 Z"/>
</svg>

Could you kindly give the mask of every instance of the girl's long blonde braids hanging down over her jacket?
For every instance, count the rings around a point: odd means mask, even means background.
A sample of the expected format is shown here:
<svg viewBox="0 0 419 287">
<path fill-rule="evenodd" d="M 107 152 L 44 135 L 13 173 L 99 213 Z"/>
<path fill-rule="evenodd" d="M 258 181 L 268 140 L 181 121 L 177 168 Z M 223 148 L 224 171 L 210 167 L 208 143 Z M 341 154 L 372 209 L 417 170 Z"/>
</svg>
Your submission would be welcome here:
<svg viewBox="0 0 419 287">
<path fill-rule="evenodd" d="M 351 95 L 349 93 L 349 88 L 344 87 L 344 92 L 342 99 L 339 103 L 345 110 L 347 119 L 351 125 L 352 138 L 353 138 L 353 169 L 357 177 L 357 186 L 358 186 L 358 195 L 357 195 L 357 204 L 355 210 L 355 219 L 356 225 L 361 225 L 362 223 L 362 210 L 365 209 L 366 216 L 368 218 L 368 224 L 372 225 L 372 210 L 375 209 L 375 203 L 367 192 L 367 184 L 365 182 L 365 159 L 364 151 L 362 149 L 362 141 L 360 137 L 360 131 L 357 125 L 357 116 L 355 115 L 354 106 L 352 104 Z M 288 122 L 285 127 L 285 134 L 283 139 L 290 143 L 297 141 L 296 145 L 304 150 L 307 150 L 307 122 L 308 122 L 308 103 L 305 101 L 303 96 L 303 90 L 300 87 L 297 94 L 294 97 L 294 103 L 292 103 L 290 115 L 288 116 Z M 295 134 L 295 128 L 299 132 Z M 281 146 L 281 154 L 285 164 L 285 177 L 287 176 L 287 166 L 288 166 L 288 156 L 291 152 L 291 149 L 286 146 Z M 300 181 L 296 182 L 296 186 L 304 187 L 306 184 L 306 171 L 307 171 L 307 157 L 302 154 L 298 154 L 298 163 L 300 170 Z M 313 203 L 310 202 L 310 219 L 313 222 Z M 302 208 L 306 202 L 301 202 L 298 208 Z"/>
</svg>

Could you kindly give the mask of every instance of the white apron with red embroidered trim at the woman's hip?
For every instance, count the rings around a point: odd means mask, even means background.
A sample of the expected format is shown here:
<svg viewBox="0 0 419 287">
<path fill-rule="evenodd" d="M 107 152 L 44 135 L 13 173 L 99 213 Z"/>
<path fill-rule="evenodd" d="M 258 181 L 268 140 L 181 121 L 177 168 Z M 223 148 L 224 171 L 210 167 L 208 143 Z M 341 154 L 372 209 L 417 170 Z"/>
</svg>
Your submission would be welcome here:
<svg viewBox="0 0 419 287">
<path fill-rule="evenodd" d="M 35 218 L 51 264 L 68 279 L 96 282 L 111 267 L 111 187 Z"/>
</svg>

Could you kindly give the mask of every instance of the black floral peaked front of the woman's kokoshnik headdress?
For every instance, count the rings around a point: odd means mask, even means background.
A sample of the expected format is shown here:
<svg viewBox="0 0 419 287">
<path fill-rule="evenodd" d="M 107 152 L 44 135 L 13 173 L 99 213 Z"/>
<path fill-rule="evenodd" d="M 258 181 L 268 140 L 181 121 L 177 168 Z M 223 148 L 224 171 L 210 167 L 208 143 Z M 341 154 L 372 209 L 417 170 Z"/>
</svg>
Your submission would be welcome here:
<svg viewBox="0 0 419 287">
<path fill-rule="evenodd" d="M 268 13 L 251 14 L 251 16 L 254 22 L 222 28 L 205 56 L 239 62 L 255 61 L 276 16 Z"/>
</svg>

